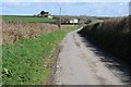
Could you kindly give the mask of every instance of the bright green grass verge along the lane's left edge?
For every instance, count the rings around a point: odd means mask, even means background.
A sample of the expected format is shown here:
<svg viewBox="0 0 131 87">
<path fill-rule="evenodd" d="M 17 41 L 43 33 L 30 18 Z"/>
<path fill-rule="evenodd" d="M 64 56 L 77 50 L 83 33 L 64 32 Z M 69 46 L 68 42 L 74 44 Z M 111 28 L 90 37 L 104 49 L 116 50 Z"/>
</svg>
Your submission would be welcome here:
<svg viewBox="0 0 131 87">
<path fill-rule="evenodd" d="M 56 46 L 74 28 L 41 34 L 38 38 L 23 38 L 2 46 L 2 80 L 4 85 L 45 84 L 48 64 L 53 61 Z"/>
</svg>

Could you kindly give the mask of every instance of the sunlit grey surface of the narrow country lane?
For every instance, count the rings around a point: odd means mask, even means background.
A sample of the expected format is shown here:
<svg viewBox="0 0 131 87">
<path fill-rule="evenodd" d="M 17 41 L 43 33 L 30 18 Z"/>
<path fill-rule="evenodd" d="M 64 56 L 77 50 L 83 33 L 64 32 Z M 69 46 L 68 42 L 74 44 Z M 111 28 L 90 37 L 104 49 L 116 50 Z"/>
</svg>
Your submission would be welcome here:
<svg viewBox="0 0 131 87">
<path fill-rule="evenodd" d="M 81 29 L 81 28 L 80 28 Z M 79 30 L 79 29 L 78 29 Z M 122 85 L 129 80 L 117 62 L 104 62 L 106 57 L 78 30 L 69 33 L 61 42 L 58 54 L 55 84 L 57 85 Z M 99 55 L 99 54 L 100 55 Z M 111 58 L 111 57 L 110 57 Z M 129 72 L 129 71 L 128 71 Z"/>
</svg>

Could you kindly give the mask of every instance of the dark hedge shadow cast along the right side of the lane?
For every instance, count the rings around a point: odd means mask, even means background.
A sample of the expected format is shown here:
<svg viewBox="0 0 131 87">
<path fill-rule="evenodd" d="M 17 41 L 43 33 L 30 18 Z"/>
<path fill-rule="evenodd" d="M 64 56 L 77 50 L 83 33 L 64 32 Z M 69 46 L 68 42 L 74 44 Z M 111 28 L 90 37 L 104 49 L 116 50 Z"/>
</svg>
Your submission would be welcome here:
<svg viewBox="0 0 131 87">
<path fill-rule="evenodd" d="M 79 34 L 80 35 L 80 34 Z M 83 42 L 86 47 L 93 51 L 98 59 L 104 62 L 111 72 L 118 76 L 123 83 L 131 84 L 131 63 L 124 59 L 117 58 L 102 50 L 96 42 L 80 35 L 83 38 Z"/>
</svg>

